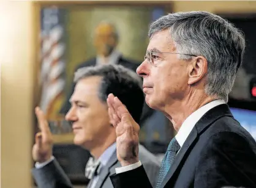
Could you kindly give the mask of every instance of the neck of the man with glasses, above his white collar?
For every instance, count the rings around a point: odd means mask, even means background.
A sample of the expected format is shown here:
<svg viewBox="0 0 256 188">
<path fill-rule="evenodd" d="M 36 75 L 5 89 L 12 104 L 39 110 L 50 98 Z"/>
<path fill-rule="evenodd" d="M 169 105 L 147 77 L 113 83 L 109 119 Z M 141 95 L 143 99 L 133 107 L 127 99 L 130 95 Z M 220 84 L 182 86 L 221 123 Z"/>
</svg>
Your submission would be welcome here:
<svg viewBox="0 0 256 188">
<path fill-rule="evenodd" d="M 181 125 L 189 115 L 216 99 L 213 96 L 206 95 L 204 92 L 202 92 L 201 95 L 198 94 L 199 93 L 196 92 L 190 93 L 186 98 L 174 101 L 171 105 L 165 106 L 164 114 L 173 124 L 175 131 L 179 131 L 179 128 L 181 128 Z"/>
</svg>

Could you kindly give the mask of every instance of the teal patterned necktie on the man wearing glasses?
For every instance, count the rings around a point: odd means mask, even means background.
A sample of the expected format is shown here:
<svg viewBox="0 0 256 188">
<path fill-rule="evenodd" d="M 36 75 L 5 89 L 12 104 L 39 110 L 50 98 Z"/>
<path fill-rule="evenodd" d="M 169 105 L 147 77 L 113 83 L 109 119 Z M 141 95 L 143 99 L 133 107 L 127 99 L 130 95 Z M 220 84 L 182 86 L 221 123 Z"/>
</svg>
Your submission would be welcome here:
<svg viewBox="0 0 256 188">
<path fill-rule="evenodd" d="M 173 164 L 176 153 L 179 151 L 180 148 L 181 148 L 181 146 L 179 146 L 179 143 L 177 142 L 175 137 L 173 137 L 173 139 L 171 140 L 171 142 L 168 145 L 168 149 L 167 149 L 167 151 L 164 155 L 164 158 L 162 160 L 162 164 L 161 164 L 160 170 L 159 170 L 159 176 L 157 179 L 156 188 L 159 188 L 160 185 L 162 184 L 165 176 L 167 175 L 168 170 L 171 167 L 171 164 Z"/>
</svg>

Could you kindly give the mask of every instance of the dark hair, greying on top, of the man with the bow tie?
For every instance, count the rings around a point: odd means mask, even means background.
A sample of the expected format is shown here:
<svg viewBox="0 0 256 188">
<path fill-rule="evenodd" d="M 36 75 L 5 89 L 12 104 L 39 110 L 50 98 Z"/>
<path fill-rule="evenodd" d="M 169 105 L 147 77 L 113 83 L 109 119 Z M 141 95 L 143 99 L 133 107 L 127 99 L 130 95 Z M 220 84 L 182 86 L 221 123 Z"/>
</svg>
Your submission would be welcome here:
<svg viewBox="0 0 256 188">
<path fill-rule="evenodd" d="M 144 95 L 141 79 L 134 71 L 121 65 L 97 65 L 96 67 L 83 67 L 75 73 L 74 82 L 89 76 L 102 76 L 99 87 L 99 98 L 107 103 L 110 93 L 117 96 L 122 104 L 129 110 L 134 120 L 139 123 L 143 109 Z"/>
</svg>

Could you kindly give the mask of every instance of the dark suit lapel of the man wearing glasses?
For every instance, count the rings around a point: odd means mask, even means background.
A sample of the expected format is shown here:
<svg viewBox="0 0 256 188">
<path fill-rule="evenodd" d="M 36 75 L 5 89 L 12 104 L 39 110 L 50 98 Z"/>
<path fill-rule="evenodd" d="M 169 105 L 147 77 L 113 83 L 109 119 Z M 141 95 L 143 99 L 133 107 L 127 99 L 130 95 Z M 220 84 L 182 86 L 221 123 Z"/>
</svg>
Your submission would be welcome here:
<svg viewBox="0 0 256 188">
<path fill-rule="evenodd" d="M 183 159 L 186 160 L 186 157 L 189 155 L 195 143 L 197 143 L 200 134 L 202 134 L 203 131 L 205 131 L 214 121 L 224 116 L 233 117 L 227 104 L 220 104 L 219 106 L 214 107 L 200 118 L 181 147 L 181 150 L 179 150 L 179 153 L 175 157 L 175 161 L 171 165 L 170 170 L 160 186 L 161 188 L 163 188 L 168 181 L 171 181 L 171 178 L 179 165 L 183 164 L 181 161 Z"/>
</svg>

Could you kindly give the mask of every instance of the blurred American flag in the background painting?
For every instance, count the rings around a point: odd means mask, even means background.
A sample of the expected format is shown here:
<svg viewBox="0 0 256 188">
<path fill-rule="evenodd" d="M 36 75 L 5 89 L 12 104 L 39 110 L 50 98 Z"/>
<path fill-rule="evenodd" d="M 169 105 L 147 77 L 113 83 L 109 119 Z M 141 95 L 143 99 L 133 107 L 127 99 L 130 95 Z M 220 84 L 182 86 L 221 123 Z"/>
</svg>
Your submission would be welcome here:
<svg viewBox="0 0 256 188">
<path fill-rule="evenodd" d="M 64 13 L 57 8 L 42 9 L 41 12 L 41 72 L 42 95 L 40 107 L 47 117 L 55 117 L 55 106 L 64 95 L 65 67 Z"/>
</svg>

